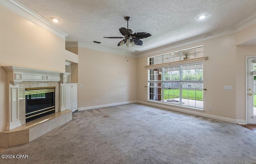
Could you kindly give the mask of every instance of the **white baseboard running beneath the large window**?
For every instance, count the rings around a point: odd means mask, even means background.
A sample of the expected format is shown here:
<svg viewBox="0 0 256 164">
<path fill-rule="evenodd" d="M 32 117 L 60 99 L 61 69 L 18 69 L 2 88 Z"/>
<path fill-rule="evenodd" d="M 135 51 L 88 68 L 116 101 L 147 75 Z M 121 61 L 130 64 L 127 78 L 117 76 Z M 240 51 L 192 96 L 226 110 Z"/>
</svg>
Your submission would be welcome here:
<svg viewBox="0 0 256 164">
<path fill-rule="evenodd" d="M 228 122 L 228 123 L 246 124 L 245 120 L 236 120 L 236 119 L 230 119 L 230 118 L 226 118 L 226 117 L 209 115 L 209 114 L 206 114 L 206 113 L 202 113 L 203 111 L 202 112 L 189 111 L 189 110 L 185 110 L 185 109 L 179 109 L 179 108 L 176 108 L 176 107 L 167 107 L 165 105 L 160 105 L 160 104 L 150 103 L 150 102 L 144 102 L 144 101 L 137 101 L 137 103 L 141 103 L 141 104 L 145 104 L 145 105 L 151 105 L 151 106 L 154 106 L 154 107 L 169 109 L 169 110 L 172 110 L 172 111 L 177 111 L 177 112 L 182 112 L 182 113 L 188 113 L 188 114 L 191 114 L 191 115 L 202 116 L 202 117 L 206 117 L 206 118 L 209 118 L 209 119 L 225 121 L 225 122 Z"/>
</svg>

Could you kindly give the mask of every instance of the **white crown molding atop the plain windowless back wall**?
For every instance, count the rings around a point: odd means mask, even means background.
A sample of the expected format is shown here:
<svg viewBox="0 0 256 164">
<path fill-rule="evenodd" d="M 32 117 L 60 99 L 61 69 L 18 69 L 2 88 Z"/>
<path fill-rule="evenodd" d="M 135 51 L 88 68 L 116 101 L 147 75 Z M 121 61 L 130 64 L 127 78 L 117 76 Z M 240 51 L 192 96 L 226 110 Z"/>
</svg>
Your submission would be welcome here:
<svg viewBox="0 0 256 164">
<path fill-rule="evenodd" d="M 92 50 L 96 50 L 96 51 L 114 53 L 114 54 L 117 54 L 117 55 L 125 55 L 125 51 L 118 51 L 118 50 L 115 50 L 115 49 L 100 47 L 100 46 L 97 46 L 97 45 L 89 45 L 89 44 L 86 44 L 86 43 L 79 43 L 78 42 L 78 47 L 86 48 L 86 49 L 92 49 Z M 128 55 L 131 56 L 131 57 L 138 57 L 135 53 L 132 53 L 132 52 L 129 52 Z"/>
</svg>

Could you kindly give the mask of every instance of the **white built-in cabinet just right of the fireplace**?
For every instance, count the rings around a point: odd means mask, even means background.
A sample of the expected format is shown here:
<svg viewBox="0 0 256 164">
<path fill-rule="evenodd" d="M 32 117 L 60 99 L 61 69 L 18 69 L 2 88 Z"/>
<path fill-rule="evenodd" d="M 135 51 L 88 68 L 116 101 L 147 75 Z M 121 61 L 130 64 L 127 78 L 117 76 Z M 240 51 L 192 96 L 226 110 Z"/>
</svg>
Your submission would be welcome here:
<svg viewBox="0 0 256 164">
<path fill-rule="evenodd" d="M 65 84 L 66 91 L 66 109 L 77 110 L 77 83 Z"/>
</svg>

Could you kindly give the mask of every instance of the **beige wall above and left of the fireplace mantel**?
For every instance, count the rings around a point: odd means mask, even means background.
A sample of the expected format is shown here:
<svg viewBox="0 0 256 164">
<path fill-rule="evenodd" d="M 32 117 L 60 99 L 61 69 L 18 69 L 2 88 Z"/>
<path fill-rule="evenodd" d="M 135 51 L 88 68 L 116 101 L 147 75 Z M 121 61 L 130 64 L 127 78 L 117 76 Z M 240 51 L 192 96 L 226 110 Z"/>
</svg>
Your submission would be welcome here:
<svg viewBox="0 0 256 164">
<path fill-rule="evenodd" d="M 65 40 L 0 5 L 0 131 L 6 126 L 3 65 L 65 71 Z"/>
</svg>

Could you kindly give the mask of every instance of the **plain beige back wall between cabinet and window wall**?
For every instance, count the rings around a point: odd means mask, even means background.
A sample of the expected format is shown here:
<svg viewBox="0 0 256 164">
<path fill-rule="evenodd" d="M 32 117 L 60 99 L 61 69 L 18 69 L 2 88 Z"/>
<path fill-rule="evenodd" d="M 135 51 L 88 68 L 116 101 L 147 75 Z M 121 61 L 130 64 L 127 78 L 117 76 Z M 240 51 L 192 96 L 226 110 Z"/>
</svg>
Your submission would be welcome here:
<svg viewBox="0 0 256 164">
<path fill-rule="evenodd" d="M 78 108 L 137 100 L 136 58 L 79 47 L 78 61 Z"/>
</svg>

